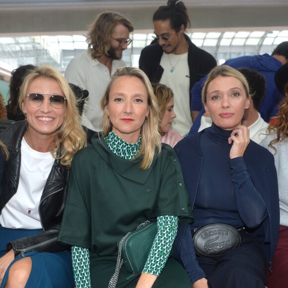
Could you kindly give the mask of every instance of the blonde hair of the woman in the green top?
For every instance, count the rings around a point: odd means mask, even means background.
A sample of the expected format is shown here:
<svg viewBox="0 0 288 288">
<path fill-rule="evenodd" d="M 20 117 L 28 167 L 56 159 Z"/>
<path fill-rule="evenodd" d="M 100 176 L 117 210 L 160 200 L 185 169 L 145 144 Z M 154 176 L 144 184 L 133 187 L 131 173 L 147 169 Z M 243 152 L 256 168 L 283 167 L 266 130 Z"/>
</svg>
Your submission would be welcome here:
<svg viewBox="0 0 288 288">
<path fill-rule="evenodd" d="M 133 67 L 123 67 L 118 68 L 118 70 L 112 75 L 111 80 L 104 92 L 104 95 L 102 96 L 102 99 L 100 101 L 100 105 L 103 111 L 103 132 L 104 137 L 106 137 L 110 131 L 112 131 L 112 123 L 110 122 L 106 107 L 109 103 L 109 94 L 111 87 L 114 83 L 114 81 L 122 76 L 130 76 L 130 77 L 137 77 L 139 78 L 145 85 L 145 88 L 147 90 L 147 96 L 148 96 L 148 105 L 149 105 L 149 115 L 148 118 L 144 121 L 144 124 L 141 127 L 141 138 L 142 138 L 142 144 L 140 151 L 136 155 L 136 158 L 143 155 L 143 159 L 140 163 L 141 169 L 147 169 L 150 167 L 154 155 L 156 153 L 155 148 L 157 147 L 158 153 L 161 151 L 161 142 L 160 142 L 160 134 L 158 131 L 158 123 L 159 123 L 159 107 L 157 104 L 156 97 L 153 93 L 153 88 L 151 86 L 151 83 L 146 76 L 146 74 L 138 69 Z"/>
</svg>

